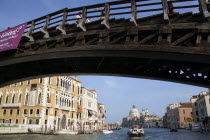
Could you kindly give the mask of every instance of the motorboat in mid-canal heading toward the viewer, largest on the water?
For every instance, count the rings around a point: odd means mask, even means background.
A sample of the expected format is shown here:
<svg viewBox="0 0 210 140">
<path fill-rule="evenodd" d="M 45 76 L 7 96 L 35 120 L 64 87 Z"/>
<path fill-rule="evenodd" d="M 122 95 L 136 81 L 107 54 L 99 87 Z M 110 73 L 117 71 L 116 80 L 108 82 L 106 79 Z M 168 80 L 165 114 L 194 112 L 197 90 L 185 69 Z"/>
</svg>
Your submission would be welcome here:
<svg viewBox="0 0 210 140">
<path fill-rule="evenodd" d="M 144 135 L 144 129 L 141 125 L 134 125 L 128 129 L 128 135 L 130 137 L 139 137 Z"/>
</svg>

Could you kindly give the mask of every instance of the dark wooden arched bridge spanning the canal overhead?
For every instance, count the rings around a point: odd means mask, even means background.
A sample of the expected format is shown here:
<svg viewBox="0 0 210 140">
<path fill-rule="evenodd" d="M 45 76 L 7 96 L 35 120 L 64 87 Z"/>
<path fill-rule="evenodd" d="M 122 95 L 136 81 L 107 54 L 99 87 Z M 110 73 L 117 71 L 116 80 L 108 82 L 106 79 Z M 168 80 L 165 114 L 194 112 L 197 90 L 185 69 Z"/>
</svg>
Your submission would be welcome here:
<svg viewBox="0 0 210 140">
<path fill-rule="evenodd" d="M 0 86 L 88 74 L 209 87 L 208 6 L 204 0 L 120 0 L 34 19 L 18 49 L 0 53 Z"/>
</svg>

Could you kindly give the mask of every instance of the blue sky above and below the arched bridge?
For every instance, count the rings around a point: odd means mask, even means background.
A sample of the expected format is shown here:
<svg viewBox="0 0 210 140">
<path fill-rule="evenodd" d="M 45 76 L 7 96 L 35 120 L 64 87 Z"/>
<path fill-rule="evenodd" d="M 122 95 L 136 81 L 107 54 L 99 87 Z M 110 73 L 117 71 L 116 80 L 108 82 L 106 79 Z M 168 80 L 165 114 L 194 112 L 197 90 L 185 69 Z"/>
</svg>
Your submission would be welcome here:
<svg viewBox="0 0 210 140">
<path fill-rule="evenodd" d="M 66 7 L 74 8 L 109 1 L 113 0 L 1 0 L 0 31 Z M 159 0 L 153 0 L 156 1 Z M 185 4 L 190 3 L 196 4 Z M 198 9 L 193 9 L 193 12 L 198 12 Z M 154 12 L 139 16 L 149 14 Z M 140 78 L 79 76 L 79 80 L 84 87 L 97 89 L 98 101 L 105 104 L 106 123 L 121 122 L 123 117 L 128 116 L 133 104 L 139 111 L 147 108 L 150 114 L 162 117 L 168 104 L 189 102 L 192 95 L 207 91 L 202 87 Z"/>
</svg>

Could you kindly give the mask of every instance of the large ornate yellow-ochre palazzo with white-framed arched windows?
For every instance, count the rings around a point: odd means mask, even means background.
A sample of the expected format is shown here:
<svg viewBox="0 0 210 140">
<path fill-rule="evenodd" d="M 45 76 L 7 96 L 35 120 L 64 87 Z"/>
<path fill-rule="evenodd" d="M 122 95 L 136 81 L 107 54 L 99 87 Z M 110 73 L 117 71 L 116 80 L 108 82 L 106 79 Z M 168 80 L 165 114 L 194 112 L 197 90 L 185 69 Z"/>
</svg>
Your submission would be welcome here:
<svg viewBox="0 0 210 140">
<path fill-rule="evenodd" d="M 78 129 L 81 82 L 69 76 L 46 77 L 0 89 L 0 122 L 42 130 Z"/>
</svg>

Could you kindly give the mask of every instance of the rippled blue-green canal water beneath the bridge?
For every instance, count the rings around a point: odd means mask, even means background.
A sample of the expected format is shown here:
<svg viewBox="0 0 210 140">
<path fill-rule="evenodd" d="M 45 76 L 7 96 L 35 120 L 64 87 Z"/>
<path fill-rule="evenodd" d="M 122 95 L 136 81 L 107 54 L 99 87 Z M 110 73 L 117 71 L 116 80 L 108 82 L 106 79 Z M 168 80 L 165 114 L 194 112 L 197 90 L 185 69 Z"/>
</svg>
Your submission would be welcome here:
<svg viewBox="0 0 210 140">
<path fill-rule="evenodd" d="M 94 133 L 81 135 L 39 135 L 39 134 L 19 134 L 0 135 L 0 140 L 210 140 L 210 134 L 192 132 L 190 130 L 179 130 L 169 132 L 164 128 L 146 128 L 142 137 L 130 138 L 127 129 L 114 130 L 112 134 Z"/>
</svg>

